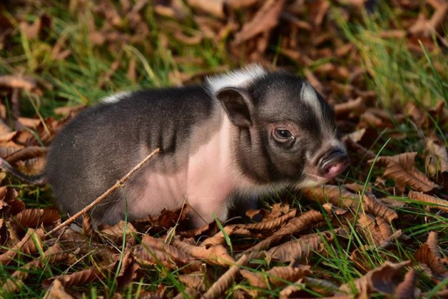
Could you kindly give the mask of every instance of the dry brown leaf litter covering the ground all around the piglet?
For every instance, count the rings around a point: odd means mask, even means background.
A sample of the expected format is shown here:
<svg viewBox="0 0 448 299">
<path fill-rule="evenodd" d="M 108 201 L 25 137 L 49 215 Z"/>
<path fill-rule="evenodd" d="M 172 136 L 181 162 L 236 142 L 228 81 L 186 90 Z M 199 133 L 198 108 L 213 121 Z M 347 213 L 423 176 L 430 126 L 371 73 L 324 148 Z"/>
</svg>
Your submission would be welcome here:
<svg viewBox="0 0 448 299">
<path fill-rule="evenodd" d="M 222 230 L 216 223 L 188 230 L 186 206 L 176 211 L 164 210 L 155 218 L 148 216 L 114 226 L 97 227 L 86 213 L 82 227 L 64 227 L 47 235 L 62 222 L 59 213 L 50 206 L 25 204 L 20 190 L 11 184 L 12 179 L 2 174 L 0 264 L 11 269 L 5 270 L 8 278 L 0 278 L 4 292 L 19 292 L 28 281 L 39 279 L 50 298 L 80 298 L 83 293 L 89 294 L 91 286 L 110 281 L 114 289 L 106 288 L 104 295 L 112 291 L 109 294 L 116 298 L 122 290 L 139 281 L 153 286 L 139 291 L 139 296 L 148 298 L 221 298 L 225 294 L 249 298 L 269 294 L 263 290 L 277 290 L 281 298 L 310 297 L 310 294 L 369 298 L 375 292 L 396 298 L 417 298 L 422 294 L 419 284 L 422 276 L 436 284 L 447 279 L 447 250 L 439 246 L 438 234 L 428 232 L 428 240 L 420 244 L 418 239 L 403 233 L 409 229 L 409 223 L 437 223 L 437 216 L 442 219 L 448 216 L 448 157 L 444 142 L 447 135 L 438 131 L 448 130 L 448 109 L 443 101 L 432 107 L 409 102 L 391 114 L 379 109 L 375 104 L 376 93 L 363 81 L 363 76 L 370 75 L 369 71 L 359 67 L 355 46 L 336 32 L 333 8 L 328 1 L 152 2 L 140 0 L 131 5 L 130 1 L 121 0 L 115 5 L 108 0 L 98 1 L 92 13 L 104 21 L 97 23 L 88 19 L 90 42 L 115 53 L 131 44 L 151 55 L 152 45 L 145 40 L 150 40 L 152 33 L 144 13 L 154 9 L 157 20 L 165 28 L 157 38 L 166 47 L 175 47 L 177 43 L 195 46 L 211 39 L 212 43 L 225 45 L 230 61 L 244 59 L 269 64 L 273 55 L 277 55 L 278 64 L 287 68 L 291 68 L 288 67 L 291 61 L 308 65 L 303 75 L 334 105 L 355 177 L 340 177 L 323 187 L 294 194 L 305 202 L 300 206 L 293 205 L 290 196 L 283 194 L 282 204 L 248 211 L 247 218 L 256 221 L 240 219 L 236 224 L 223 223 Z M 336 2 L 343 2 L 336 9 L 346 20 L 359 19 L 359 12 L 366 5 L 365 1 Z M 397 9 L 419 11 L 421 6 L 415 2 L 394 1 L 393 5 Z M 83 5 L 83 0 L 70 1 L 69 10 L 81 16 Z M 429 51 L 435 49 L 433 34 L 447 47 L 440 24 L 446 19 L 448 4 L 428 0 L 424 6 L 417 18 L 403 22 L 403 28 L 383 31 L 381 36 L 390 39 L 406 36 L 407 47 L 420 55 L 424 53 L 419 42 Z M 25 5 L 22 9 L 29 12 L 33 8 Z M 55 26 L 53 18 L 42 13 L 30 22 L 21 14 L 5 17 L 0 13 L 3 25 L 0 49 L 12 46 L 8 40 L 18 34 L 13 30 L 13 23 L 18 24 L 23 38 L 44 40 Z M 195 32 L 180 25 L 189 18 L 198 26 Z M 272 44 L 275 44 L 275 53 Z M 63 38 L 48 46 L 50 59 L 54 61 L 74 55 Z M 203 77 L 219 70 L 208 68 L 201 57 L 183 57 L 176 51 L 173 55 L 185 67 L 169 74 L 172 84 L 189 83 L 198 74 Z M 337 59 L 328 60 L 328 57 Z M 314 63 L 320 59 L 324 61 Z M 197 64 L 200 71 L 195 69 L 193 73 L 186 67 L 189 64 Z M 107 88 L 118 72 L 126 74 L 130 82 L 140 80 L 135 59 L 126 65 L 124 59 L 116 56 L 98 86 Z M 154 84 L 159 83 L 154 79 Z M 52 89 L 53 84 L 41 79 L 38 73 L 23 75 L 18 69 L 11 75 L 0 75 L 4 99 L 17 100 L 25 94 L 44 96 Z M 13 115 L 11 124 L 7 115 L 9 108 L 0 104 L 0 156 L 24 172 L 38 173 L 43 169 L 44 156 L 54 135 L 84 107 L 57 108 L 54 113 L 64 115 L 58 120 Z M 406 138 L 405 134 L 391 131 L 397 128 L 397 123 L 408 120 L 422 130 L 424 150 L 416 152 L 411 147 L 400 154 L 381 152 L 375 159 L 376 142 L 381 135 L 390 132 L 394 140 Z M 433 120 L 438 120 L 438 125 Z M 370 167 L 375 179 L 364 186 L 362 182 L 368 177 Z M 394 201 L 401 204 L 394 205 Z M 407 209 L 412 211 L 416 205 L 430 209 L 431 214 L 409 213 Z M 356 242 L 352 242 L 351 229 L 359 233 Z M 446 246 L 446 231 L 442 235 Z M 326 274 L 332 271 L 330 267 L 317 262 L 316 257 L 331 255 L 329 248 L 336 246 L 346 250 L 347 259 L 359 272 L 359 279 L 349 283 L 338 281 Z M 403 247 L 411 254 L 402 258 L 412 261 L 395 260 L 394 255 L 399 256 Z M 390 261 L 373 263 L 369 258 L 372 252 Z M 49 267 L 59 267 L 64 274 L 48 272 Z M 156 269 L 165 279 L 154 280 L 151 273 Z M 39 271 L 45 271 L 44 278 Z M 185 286 L 183 289 L 169 287 L 166 279 L 169 272 Z M 241 285 L 232 289 L 235 283 Z M 439 294 L 447 294 L 446 285 Z"/>
</svg>

